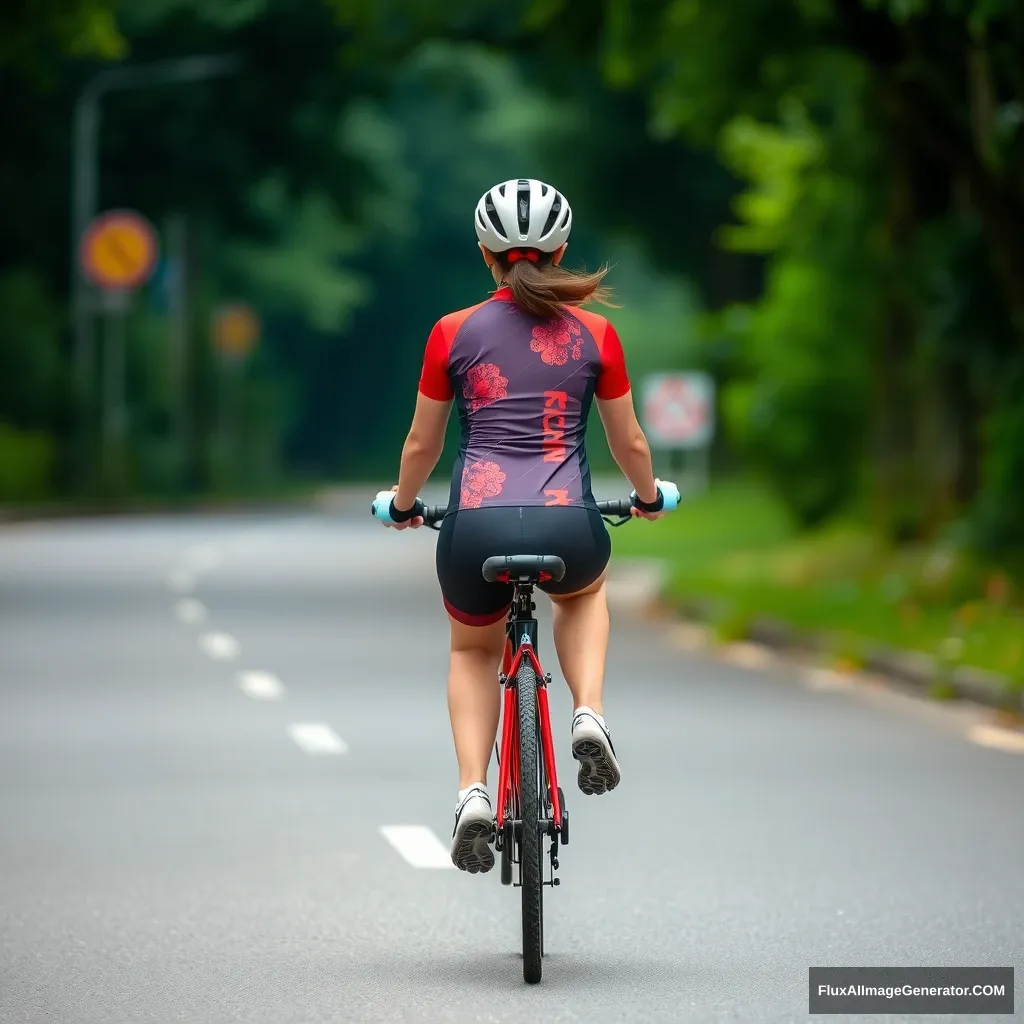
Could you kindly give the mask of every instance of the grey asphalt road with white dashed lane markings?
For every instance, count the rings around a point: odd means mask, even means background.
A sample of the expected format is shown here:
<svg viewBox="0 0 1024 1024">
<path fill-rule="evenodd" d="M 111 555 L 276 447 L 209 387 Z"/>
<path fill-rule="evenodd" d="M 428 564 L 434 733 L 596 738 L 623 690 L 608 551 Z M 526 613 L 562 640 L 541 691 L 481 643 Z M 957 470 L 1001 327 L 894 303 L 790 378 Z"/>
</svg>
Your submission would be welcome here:
<svg viewBox="0 0 1024 1024">
<path fill-rule="evenodd" d="M 613 794 L 575 790 L 553 693 L 572 833 L 525 986 L 518 891 L 438 853 L 435 535 L 364 504 L 0 528 L 0 1021 L 760 1024 L 807 1018 L 808 966 L 1020 987 L 1024 757 L 626 614 Z"/>
</svg>

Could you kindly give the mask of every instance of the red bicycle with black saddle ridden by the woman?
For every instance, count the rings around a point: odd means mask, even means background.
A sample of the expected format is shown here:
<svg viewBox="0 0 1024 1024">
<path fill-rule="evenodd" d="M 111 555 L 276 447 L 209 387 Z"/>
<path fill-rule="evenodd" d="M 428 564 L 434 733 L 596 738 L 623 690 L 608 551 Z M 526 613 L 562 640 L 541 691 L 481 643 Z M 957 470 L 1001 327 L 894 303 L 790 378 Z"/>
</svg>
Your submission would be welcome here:
<svg viewBox="0 0 1024 1024">
<path fill-rule="evenodd" d="M 679 504 L 679 490 L 668 481 L 659 481 L 659 485 L 665 508 L 671 511 Z M 391 497 L 382 492 L 378 499 L 390 502 Z M 598 502 L 597 508 L 609 526 L 622 526 L 633 518 L 631 498 Z M 446 513 L 443 505 L 424 506 L 423 524 L 439 530 Z M 609 516 L 620 518 L 612 521 Z M 514 585 L 498 677 L 504 693 L 501 748 L 495 744 L 498 794 L 494 842 L 501 855 L 502 885 L 522 891 L 522 975 L 527 984 L 537 984 L 544 957 L 544 887 L 561 884 L 555 872 L 559 868 L 558 850 L 569 842 L 569 816 L 555 765 L 548 706 L 551 674 L 544 671 L 537 655 L 534 588 L 560 581 L 565 563 L 555 555 L 495 555 L 480 570 L 488 583 Z M 550 868 L 547 880 L 545 859 Z M 513 882 L 514 865 L 518 865 L 518 882 Z"/>
</svg>

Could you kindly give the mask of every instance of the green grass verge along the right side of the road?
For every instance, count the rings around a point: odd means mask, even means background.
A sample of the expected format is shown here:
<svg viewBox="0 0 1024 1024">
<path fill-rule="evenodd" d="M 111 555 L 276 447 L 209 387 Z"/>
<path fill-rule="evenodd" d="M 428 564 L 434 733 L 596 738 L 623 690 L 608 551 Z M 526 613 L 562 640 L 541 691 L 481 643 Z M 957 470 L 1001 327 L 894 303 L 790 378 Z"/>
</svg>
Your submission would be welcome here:
<svg viewBox="0 0 1024 1024">
<path fill-rule="evenodd" d="M 800 534 L 746 482 L 612 538 L 621 556 L 667 559 L 670 598 L 699 601 L 723 639 L 770 616 L 827 635 L 834 657 L 853 665 L 881 644 L 1024 684 L 1024 607 L 1006 575 L 963 552 L 888 549 L 857 523 Z"/>
</svg>

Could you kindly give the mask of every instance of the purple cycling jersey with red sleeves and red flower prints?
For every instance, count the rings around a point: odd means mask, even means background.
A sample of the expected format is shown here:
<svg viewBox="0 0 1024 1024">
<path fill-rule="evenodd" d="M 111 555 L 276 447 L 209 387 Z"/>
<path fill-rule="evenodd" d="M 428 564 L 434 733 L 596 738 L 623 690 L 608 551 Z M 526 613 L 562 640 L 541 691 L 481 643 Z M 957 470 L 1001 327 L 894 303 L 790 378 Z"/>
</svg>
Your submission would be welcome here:
<svg viewBox="0 0 1024 1024">
<path fill-rule="evenodd" d="M 545 321 L 501 288 L 430 332 L 420 391 L 455 399 L 462 427 L 449 510 L 593 505 L 584 435 L 594 395 L 630 389 L 623 346 L 603 317 Z"/>
</svg>

